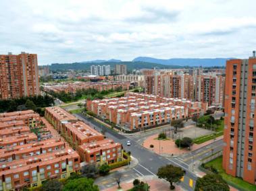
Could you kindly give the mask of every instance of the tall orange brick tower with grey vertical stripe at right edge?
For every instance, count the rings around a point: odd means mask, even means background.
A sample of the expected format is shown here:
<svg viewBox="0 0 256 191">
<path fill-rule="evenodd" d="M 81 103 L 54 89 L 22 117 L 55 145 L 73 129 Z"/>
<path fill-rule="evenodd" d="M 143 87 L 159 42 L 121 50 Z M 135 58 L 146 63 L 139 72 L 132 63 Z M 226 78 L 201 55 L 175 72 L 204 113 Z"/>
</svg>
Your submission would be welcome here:
<svg viewBox="0 0 256 191">
<path fill-rule="evenodd" d="M 226 63 L 223 167 L 256 183 L 256 57 Z"/>
</svg>

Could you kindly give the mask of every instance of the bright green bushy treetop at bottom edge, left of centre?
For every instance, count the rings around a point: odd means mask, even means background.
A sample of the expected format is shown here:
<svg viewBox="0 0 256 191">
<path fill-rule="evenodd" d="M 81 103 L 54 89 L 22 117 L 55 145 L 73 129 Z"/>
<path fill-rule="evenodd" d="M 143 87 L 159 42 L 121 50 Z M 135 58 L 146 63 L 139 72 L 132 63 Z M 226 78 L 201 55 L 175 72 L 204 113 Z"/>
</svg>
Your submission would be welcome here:
<svg viewBox="0 0 256 191">
<path fill-rule="evenodd" d="M 93 183 L 94 181 L 91 178 L 68 180 L 63 188 L 63 191 L 99 191 L 98 186 L 94 185 Z"/>
</svg>

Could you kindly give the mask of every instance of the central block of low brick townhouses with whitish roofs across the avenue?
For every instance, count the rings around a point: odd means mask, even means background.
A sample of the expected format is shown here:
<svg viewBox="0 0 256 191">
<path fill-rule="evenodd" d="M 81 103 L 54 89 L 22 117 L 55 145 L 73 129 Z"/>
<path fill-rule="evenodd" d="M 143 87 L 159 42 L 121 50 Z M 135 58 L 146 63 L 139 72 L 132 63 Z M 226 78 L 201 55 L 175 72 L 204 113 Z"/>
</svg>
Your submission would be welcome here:
<svg viewBox="0 0 256 191">
<path fill-rule="evenodd" d="M 87 100 L 86 107 L 126 130 L 170 123 L 172 120 L 201 115 L 207 110 L 206 103 L 143 93 L 126 93 L 124 98 Z"/>
</svg>

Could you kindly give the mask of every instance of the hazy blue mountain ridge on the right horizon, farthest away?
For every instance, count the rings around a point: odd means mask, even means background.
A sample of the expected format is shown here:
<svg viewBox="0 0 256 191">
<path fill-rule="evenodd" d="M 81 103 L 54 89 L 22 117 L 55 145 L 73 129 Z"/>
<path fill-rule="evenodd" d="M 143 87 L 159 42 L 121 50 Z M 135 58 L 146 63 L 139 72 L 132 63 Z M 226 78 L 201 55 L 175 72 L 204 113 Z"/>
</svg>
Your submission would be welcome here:
<svg viewBox="0 0 256 191">
<path fill-rule="evenodd" d="M 224 67 L 226 61 L 231 58 L 216 58 L 216 59 L 155 59 L 151 57 L 137 57 L 132 62 L 157 63 L 161 65 L 178 65 L 181 67 Z"/>
</svg>

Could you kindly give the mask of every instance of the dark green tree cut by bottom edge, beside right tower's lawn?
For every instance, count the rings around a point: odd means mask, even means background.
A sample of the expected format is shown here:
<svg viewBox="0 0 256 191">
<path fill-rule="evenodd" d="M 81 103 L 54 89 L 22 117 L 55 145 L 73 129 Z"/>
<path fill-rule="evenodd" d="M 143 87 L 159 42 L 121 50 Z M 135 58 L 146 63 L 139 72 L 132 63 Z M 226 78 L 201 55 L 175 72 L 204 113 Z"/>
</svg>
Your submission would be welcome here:
<svg viewBox="0 0 256 191">
<path fill-rule="evenodd" d="M 195 186 L 195 191 L 213 191 L 223 190 L 228 191 L 230 188 L 222 176 L 218 174 L 207 174 L 203 178 L 198 178 Z"/>
</svg>

